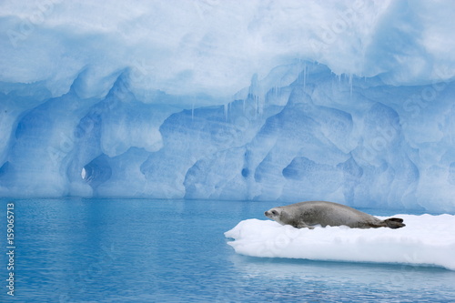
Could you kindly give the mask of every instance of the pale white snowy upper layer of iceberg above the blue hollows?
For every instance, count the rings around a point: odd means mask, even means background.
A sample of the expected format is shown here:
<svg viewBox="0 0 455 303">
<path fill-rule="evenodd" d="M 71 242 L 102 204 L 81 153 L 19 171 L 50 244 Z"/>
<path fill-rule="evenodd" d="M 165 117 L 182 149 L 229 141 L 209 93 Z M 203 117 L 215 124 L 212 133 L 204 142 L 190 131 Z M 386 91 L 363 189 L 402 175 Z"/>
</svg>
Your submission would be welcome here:
<svg viewBox="0 0 455 303">
<path fill-rule="evenodd" d="M 450 0 L 0 2 L 0 81 L 53 96 L 89 68 L 86 96 L 127 66 L 138 89 L 231 96 L 294 58 L 393 85 L 455 75 Z M 110 80 L 109 80 L 110 79 Z M 111 83 L 112 84 L 112 83 Z"/>
</svg>

